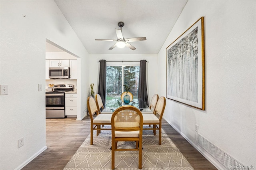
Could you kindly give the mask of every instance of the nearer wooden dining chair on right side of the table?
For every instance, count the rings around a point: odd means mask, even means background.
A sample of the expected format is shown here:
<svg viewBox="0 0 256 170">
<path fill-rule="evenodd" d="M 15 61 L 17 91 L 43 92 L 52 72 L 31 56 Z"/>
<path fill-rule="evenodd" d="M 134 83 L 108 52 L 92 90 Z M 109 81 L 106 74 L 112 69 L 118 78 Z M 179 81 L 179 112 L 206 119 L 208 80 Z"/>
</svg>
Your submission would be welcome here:
<svg viewBox="0 0 256 170">
<path fill-rule="evenodd" d="M 164 109 L 166 105 L 165 97 L 160 97 L 156 103 L 156 108 L 154 114 L 143 114 L 143 125 L 153 125 L 152 128 L 143 128 L 143 130 L 153 130 L 154 135 L 156 135 L 156 130 L 159 132 L 158 143 L 162 144 L 161 133 L 162 133 L 162 117 L 164 114 Z M 156 113 L 159 117 L 156 116 Z"/>
</svg>

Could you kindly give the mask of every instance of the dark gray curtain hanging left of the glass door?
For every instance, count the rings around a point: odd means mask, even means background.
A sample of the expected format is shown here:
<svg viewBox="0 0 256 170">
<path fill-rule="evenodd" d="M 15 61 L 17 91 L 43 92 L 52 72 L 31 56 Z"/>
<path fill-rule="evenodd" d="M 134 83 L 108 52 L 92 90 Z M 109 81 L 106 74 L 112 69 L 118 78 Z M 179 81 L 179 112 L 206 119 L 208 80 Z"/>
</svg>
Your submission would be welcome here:
<svg viewBox="0 0 256 170">
<path fill-rule="evenodd" d="M 105 59 L 101 59 L 98 94 L 102 99 L 102 103 L 104 107 L 106 105 L 106 72 L 107 72 L 107 62 Z"/>
</svg>

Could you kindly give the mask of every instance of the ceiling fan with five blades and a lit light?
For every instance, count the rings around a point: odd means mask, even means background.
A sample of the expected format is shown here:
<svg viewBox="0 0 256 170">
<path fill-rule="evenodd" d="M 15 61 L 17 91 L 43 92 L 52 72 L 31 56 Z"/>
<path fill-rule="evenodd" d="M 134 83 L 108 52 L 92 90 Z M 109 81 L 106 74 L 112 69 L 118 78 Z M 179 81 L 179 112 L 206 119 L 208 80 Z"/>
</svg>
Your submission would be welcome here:
<svg viewBox="0 0 256 170">
<path fill-rule="evenodd" d="M 132 50 L 136 49 L 134 46 L 132 46 L 129 42 L 138 42 L 138 41 L 144 41 L 147 40 L 146 37 L 138 37 L 138 38 L 124 38 L 122 34 L 122 27 L 124 26 L 124 22 L 118 22 L 118 26 L 120 27 L 119 29 L 116 29 L 116 36 L 117 40 L 105 40 L 105 39 L 95 39 L 96 41 L 111 41 L 111 42 L 116 42 L 112 47 L 109 49 L 113 49 L 114 47 L 128 47 Z"/>
</svg>

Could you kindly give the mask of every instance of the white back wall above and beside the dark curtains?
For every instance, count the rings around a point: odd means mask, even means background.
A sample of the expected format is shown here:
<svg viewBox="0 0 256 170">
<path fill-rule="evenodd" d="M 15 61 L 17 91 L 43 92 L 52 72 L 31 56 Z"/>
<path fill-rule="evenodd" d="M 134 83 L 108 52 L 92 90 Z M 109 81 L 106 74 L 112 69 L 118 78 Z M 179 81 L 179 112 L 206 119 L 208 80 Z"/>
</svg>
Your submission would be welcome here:
<svg viewBox="0 0 256 170">
<path fill-rule="evenodd" d="M 114 50 L 114 49 L 113 49 Z M 157 93 L 158 83 L 157 80 L 157 54 L 90 54 L 90 76 L 89 83 L 94 83 L 94 91 L 98 92 L 98 81 L 99 81 L 99 71 L 101 59 L 106 59 L 107 61 L 140 61 L 146 59 L 147 67 L 147 87 L 148 87 L 148 101 L 155 93 Z M 124 62 L 125 64 L 126 62 Z"/>
</svg>

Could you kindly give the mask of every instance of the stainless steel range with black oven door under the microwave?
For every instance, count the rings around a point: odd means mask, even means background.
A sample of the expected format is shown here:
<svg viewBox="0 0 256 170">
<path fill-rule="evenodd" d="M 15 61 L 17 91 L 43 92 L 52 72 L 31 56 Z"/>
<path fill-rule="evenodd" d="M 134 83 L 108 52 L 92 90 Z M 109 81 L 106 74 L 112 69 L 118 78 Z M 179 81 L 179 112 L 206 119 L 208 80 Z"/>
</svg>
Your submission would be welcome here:
<svg viewBox="0 0 256 170">
<path fill-rule="evenodd" d="M 65 118 L 65 91 L 73 91 L 70 84 L 54 85 L 53 91 L 46 91 L 46 118 Z"/>
</svg>

